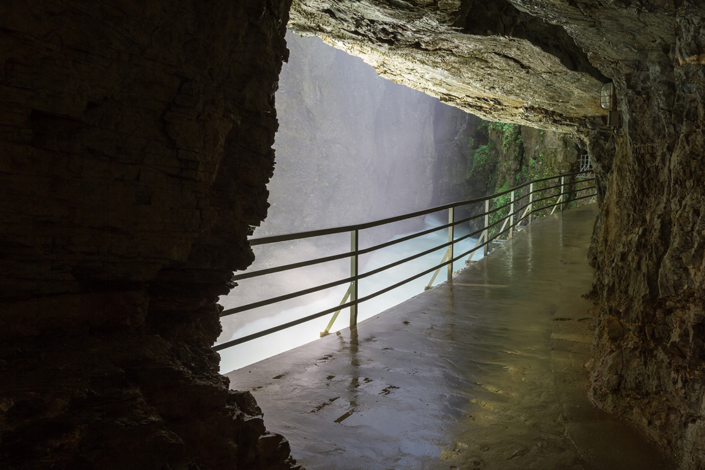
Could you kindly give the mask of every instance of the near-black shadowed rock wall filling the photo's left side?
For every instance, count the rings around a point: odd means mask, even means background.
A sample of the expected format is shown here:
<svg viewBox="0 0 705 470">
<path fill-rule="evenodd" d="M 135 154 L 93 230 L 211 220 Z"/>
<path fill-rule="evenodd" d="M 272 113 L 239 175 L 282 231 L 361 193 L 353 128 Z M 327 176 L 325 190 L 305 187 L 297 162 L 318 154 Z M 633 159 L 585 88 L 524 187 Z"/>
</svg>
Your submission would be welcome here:
<svg viewBox="0 0 705 470">
<path fill-rule="evenodd" d="M 288 469 L 210 346 L 288 4 L 0 5 L 0 467 Z"/>
</svg>

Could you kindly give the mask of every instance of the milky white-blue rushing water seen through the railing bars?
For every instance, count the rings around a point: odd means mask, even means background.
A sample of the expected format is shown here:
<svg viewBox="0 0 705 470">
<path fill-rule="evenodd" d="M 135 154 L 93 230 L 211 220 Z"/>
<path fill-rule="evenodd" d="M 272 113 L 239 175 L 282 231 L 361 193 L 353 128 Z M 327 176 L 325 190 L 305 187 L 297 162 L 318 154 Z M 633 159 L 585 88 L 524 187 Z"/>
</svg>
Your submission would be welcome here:
<svg viewBox="0 0 705 470">
<path fill-rule="evenodd" d="M 443 220 L 441 216 L 427 216 L 423 221 L 423 227 L 416 231 L 418 232 L 427 230 L 434 226 L 443 225 L 441 220 Z M 463 235 L 467 235 L 467 233 L 469 233 L 467 225 L 464 227 L 455 227 L 455 239 L 458 239 Z M 394 238 L 398 239 L 404 237 L 405 235 L 409 234 L 402 233 L 396 235 Z M 345 235 L 345 237 L 347 236 L 348 235 Z M 338 240 L 341 240 L 341 238 L 338 237 Z M 360 249 L 372 245 L 372 243 L 369 242 L 367 244 L 364 243 L 364 240 L 365 233 L 364 230 L 362 230 L 360 232 Z M 379 243 L 379 240 L 376 241 Z M 439 230 L 428 235 L 423 235 L 422 237 L 417 237 L 414 240 L 400 242 L 391 247 L 386 247 L 373 252 L 368 256 L 361 256 L 359 273 L 367 273 L 381 266 L 385 266 L 386 264 L 404 259 L 407 256 L 431 249 L 432 247 L 442 245 L 446 242 L 448 242 L 447 229 Z M 477 239 L 472 237 L 462 240 L 461 242 L 457 242 L 454 248 L 455 256 L 472 249 L 476 243 Z M 321 243 L 320 245 L 322 251 L 325 244 Z M 338 247 L 340 247 L 340 245 L 338 245 Z M 255 256 L 258 256 L 257 248 L 258 247 L 255 247 Z M 295 259 L 295 261 L 312 257 L 312 254 L 317 252 L 317 242 L 315 240 L 312 242 L 307 242 L 306 245 L 303 245 L 303 247 L 300 245 L 299 248 L 302 250 L 303 255 L 300 255 L 298 259 Z M 295 251 L 295 249 L 292 249 L 291 251 Z M 341 251 L 344 250 L 338 250 L 338 252 Z M 292 262 L 290 259 L 279 259 L 281 256 L 271 256 L 272 258 L 276 258 L 271 260 L 262 259 L 264 253 L 265 252 L 261 252 L 258 256 L 258 264 L 262 267 L 273 265 L 278 266 L 281 264 L 286 264 L 287 262 Z M 358 298 L 370 295 L 377 290 L 381 290 L 384 287 L 391 286 L 402 280 L 410 278 L 417 273 L 432 268 L 441 262 L 441 259 L 445 253 L 446 248 L 438 249 L 435 252 L 421 256 L 413 261 L 408 261 L 394 268 L 390 268 L 381 273 L 369 276 L 368 278 L 361 279 L 358 283 Z M 316 253 L 315 256 L 326 256 L 327 254 L 329 253 Z M 482 258 L 482 249 L 478 249 L 472 254 L 472 256 L 473 260 Z M 453 269 L 457 271 L 458 269 L 464 267 L 465 259 L 467 259 L 467 256 L 460 261 L 456 261 L 453 265 Z M 433 285 L 446 281 L 447 271 L 447 267 L 443 266 L 439 275 L 436 276 Z M 344 259 L 334 263 L 326 263 L 320 266 L 290 271 L 289 273 L 281 273 L 276 276 L 278 276 L 278 278 L 274 278 L 274 276 L 272 276 L 274 280 L 271 281 L 276 283 L 276 287 L 281 287 L 281 285 L 289 285 L 290 288 L 288 288 L 287 292 L 295 292 L 302 288 L 329 283 L 333 280 L 349 276 L 349 261 L 348 259 Z M 389 309 L 390 307 L 393 307 L 406 299 L 410 299 L 411 297 L 420 294 L 424 291 L 424 287 L 429 284 L 432 276 L 433 273 L 428 273 L 427 275 L 412 280 L 403 286 L 396 287 L 385 294 L 369 299 L 367 302 L 363 302 L 358 306 L 358 321 L 379 315 L 386 309 Z M 266 299 L 267 297 L 272 297 L 274 295 L 281 295 L 281 292 L 275 293 L 273 290 L 269 290 L 262 278 L 238 281 L 238 284 L 239 286 L 235 287 L 229 295 L 221 297 L 220 303 L 224 307 L 238 307 L 243 303 L 247 304 L 250 302 L 256 302 L 257 300 Z M 348 283 L 345 283 L 337 287 L 332 287 L 330 289 L 317 292 L 316 294 L 307 295 L 303 297 L 303 301 L 298 299 L 280 302 L 274 306 L 254 309 L 252 311 L 223 317 L 223 334 L 216 344 L 236 338 L 242 338 L 243 336 L 257 333 L 265 330 L 266 328 L 278 326 L 288 321 L 294 321 L 304 316 L 335 307 L 341 303 L 341 300 L 347 290 Z M 252 297 L 255 293 L 256 296 Z M 245 297 L 246 300 L 243 301 L 242 297 Z M 317 340 L 320 338 L 320 332 L 326 328 L 332 316 L 333 314 L 327 314 L 319 319 L 307 321 L 298 326 L 293 326 L 291 328 L 287 328 L 286 330 L 266 335 L 263 338 L 258 338 L 256 340 L 245 342 L 241 345 L 229 347 L 226 350 L 221 350 L 219 352 L 221 354 L 221 373 L 227 373 L 235 369 L 240 369 L 254 362 L 266 359 L 267 357 L 286 352 L 294 347 Z M 333 324 L 330 331 L 333 333 L 336 330 L 346 328 L 349 324 L 350 309 L 348 308 L 340 312 L 338 319 Z"/>
</svg>

